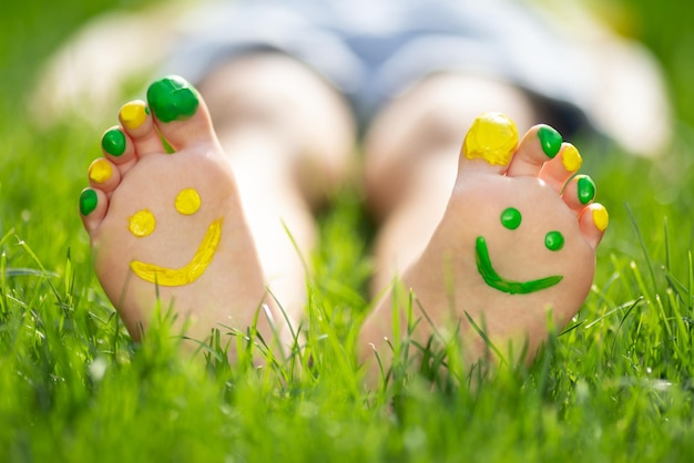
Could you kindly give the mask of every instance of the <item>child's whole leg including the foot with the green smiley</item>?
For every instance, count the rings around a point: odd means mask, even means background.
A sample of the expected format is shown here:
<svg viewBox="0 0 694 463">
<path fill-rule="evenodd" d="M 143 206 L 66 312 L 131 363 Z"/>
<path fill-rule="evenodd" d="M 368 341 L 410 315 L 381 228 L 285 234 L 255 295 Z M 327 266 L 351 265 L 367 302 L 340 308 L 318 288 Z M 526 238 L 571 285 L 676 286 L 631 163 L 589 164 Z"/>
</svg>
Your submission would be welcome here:
<svg viewBox="0 0 694 463">
<path fill-rule="evenodd" d="M 405 114 L 395 113 L 398 109 Z M 367 158 L 369 191 L 385 217 L 375 289 L 400 276 L 416 296 L 414 317 L 420 321 L 414 338 L 426 344 L 435 332 L 446 338 L 459 329 L 470 362 L 483 354 L 484 343 L 468 317 L 504 354 L 508 342 L 516 356 L 528 342 L 531 358 L 547 337 L 547 311 L 558 325 L 576 312 L 592 284 L 594 248 L 608 220 L 604 208 L 592 204 L 590 178 L 571 181 L 562 193 L 581 158 L 549 127 L 530 128 L 516 148 L 518 132 L 507 120 L 476 121 L 460 151 L 463 128 L 482 109 L 512 114 L 524 128 L 533 117 L 513 89 L 436 76 L 384 113 Z M 398 127 L 411 130 L 411 137 Z M 503 150 L 492 155 L 498 141 Z M 378 152 L 381 146 L 390 151 Z M 384 339 L 406 329 L 404 318 L 392 326 L 392 303 L 397 300 L 402 310 L 408 298 L 392 295 L 386 292 L 365 323 L 365 358 L 374 344 L 387 359 Z"/>
</svg>

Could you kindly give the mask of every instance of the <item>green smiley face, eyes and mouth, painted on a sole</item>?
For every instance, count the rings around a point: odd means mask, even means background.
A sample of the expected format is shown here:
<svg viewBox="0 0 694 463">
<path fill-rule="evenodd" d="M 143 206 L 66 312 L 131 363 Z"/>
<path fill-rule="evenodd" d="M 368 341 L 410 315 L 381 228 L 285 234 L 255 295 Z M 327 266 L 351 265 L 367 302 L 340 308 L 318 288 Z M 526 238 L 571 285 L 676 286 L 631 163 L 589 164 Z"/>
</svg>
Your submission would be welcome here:
<svg viewBox="0 0 694 463">
<path fill-rule="evenodd" d="M 508 207 L 501 213 L 499 220 L 504 228 L 516 230 L 522 224 L 522 214 L 514 207 Z M 563 246 L 564 237 L 561 232 L 550 230 L 545 234 L 544 247 L 548 251 L 560 251 Z M 502 292 L 508 292 L 510 295 L 527 295 L 530 292 L 537 292 L 553 287 L 564 278 L 561 275 L 551 275 L 539 279 L 514 281 L 504 278 L 497 272 L 489 256 L 487 239 L 484 237 L 477 237 L 474 251 L 477 269 L 484 282 Z"/>
</svg>

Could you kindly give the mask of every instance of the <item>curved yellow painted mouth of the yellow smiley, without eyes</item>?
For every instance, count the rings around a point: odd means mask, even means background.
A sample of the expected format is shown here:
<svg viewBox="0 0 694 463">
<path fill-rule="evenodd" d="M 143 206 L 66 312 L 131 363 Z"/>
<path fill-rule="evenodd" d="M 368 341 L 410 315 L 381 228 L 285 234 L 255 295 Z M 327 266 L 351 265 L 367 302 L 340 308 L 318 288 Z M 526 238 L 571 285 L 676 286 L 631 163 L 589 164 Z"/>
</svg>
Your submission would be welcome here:
<svg viewBox="0 0 694 463">
<path fill-rule="evenodd" d="M 160 286 L 183 286 L 200 278 L 212 263 L 220 238 L 222 237 L 223 217 L 217 218 L 207 227 L 193 258 L 181 268 L 166 268 L 155 264 L 146 264 L 140 260 L 130 263 L 133 272 L 145 281 Z"/>
</svg>

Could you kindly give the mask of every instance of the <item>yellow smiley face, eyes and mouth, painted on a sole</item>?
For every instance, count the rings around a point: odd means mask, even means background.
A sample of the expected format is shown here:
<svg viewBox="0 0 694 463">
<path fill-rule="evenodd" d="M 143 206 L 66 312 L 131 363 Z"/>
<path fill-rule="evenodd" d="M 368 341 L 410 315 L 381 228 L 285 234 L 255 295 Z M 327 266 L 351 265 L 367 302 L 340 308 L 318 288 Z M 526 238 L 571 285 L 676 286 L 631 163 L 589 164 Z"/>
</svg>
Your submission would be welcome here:
<svg viewBox="0 0 694 463">
<path fill-rule="evenodd" d="M 173 207 L 182 215 L 193 215 L 202 205 L 197 191 L 182 189 Z M 133 260 L 131 270 L 141 279 L 160 286 L 184 286 L 195 281 L 204 272 L 216 253 L 222 236 L 223 217 L 213 220 L 188 263 L 178 268 L 167 268 L 153 263 Z M 150 209 L 141 209 L 129 217 L 129 230 L 137 238 L 146 238 L 156 229 L 156 217 Z"/>
</svg>

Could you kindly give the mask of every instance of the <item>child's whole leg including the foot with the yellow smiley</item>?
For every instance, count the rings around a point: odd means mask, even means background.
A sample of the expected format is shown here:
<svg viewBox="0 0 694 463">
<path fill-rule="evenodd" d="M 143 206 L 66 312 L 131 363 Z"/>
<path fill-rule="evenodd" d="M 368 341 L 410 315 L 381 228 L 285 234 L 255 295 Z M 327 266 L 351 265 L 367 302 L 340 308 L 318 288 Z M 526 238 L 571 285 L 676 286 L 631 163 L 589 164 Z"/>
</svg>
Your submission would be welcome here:
<svg viewBox="0 0 694 463">
<path fill-rule="evenodd" d="M 190 318 L 186 333 L 194 339 L 212 328 L 245 330 L 262 303 L 282 329 L 264 274 L 289 318 L 300 317 L 305 286 L 297 253 L 314 244 L 309 200 L 317 195 L 299 191 L 299 165 L 310 160 L 317 175 L 339 178 L 351 152 L 351 120 L 335 93 L 299 64 L 275 55 L 247 60 L 248 66 L 239 61 L 202 84 L 210 112 L 183 80 L 152 84 L 152 114 L 142 102 L 123 106 L 121 125 L 104 136 L 104 157 L 90 168 L 80 208 L 96 275 L 135 339 L 157 298 L 172 303 L 181 321 Z M 273 99 L 254 100 L 267 90 L 257 72 L 268 66 L 286 80 L 276 79 Z M 294 137 L 294 122 L 322 130 Z M 173 155 L 163 154 L 160 133 Z M 272 339 L 264 313 L 258 328 Z"/>
</svg>

